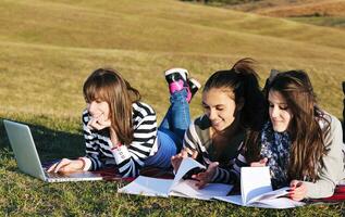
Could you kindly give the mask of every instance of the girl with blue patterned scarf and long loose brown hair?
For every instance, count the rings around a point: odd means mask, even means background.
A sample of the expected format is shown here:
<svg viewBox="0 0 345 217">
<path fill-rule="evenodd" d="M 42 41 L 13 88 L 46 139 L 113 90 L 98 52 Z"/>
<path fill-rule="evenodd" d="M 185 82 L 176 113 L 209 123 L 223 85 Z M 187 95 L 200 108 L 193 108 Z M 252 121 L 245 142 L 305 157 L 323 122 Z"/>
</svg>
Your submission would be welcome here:
<svg viewBox="0 0 345 217">
<path fill-rule="evenodd" d="M 340 120 L 317 105 L 303 71 L 279 73 L 266 92 L 269 120 L 259 139 L 246 142 L 245 159 L 269 166 L 273 188 L 289 186 L 293 200 L 331 196 L 345 177 Z"/>
</svg>

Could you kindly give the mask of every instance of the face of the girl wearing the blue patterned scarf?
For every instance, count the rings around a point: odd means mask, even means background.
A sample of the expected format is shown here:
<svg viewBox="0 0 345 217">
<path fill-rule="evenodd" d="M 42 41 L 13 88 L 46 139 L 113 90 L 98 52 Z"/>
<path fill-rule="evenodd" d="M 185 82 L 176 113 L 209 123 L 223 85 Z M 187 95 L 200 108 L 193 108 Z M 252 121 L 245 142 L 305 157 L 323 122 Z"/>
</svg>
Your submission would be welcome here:
<svg viewBox="0 0 345 217">
<path fill-rule="evenodd" d="M 293 118 L 293 113 L 285 99 L 279 91 L 269 92 L 269 113 L 274 131 L 283 132 L 287 130 Z"/>
</svg>

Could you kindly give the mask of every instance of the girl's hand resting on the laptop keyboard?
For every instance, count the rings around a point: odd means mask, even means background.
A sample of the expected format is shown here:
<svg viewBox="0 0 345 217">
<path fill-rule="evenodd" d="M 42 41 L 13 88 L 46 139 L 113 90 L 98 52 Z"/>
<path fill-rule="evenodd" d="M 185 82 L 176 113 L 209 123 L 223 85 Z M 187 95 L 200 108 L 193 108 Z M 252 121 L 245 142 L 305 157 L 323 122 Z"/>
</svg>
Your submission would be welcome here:
<svg viewBox="0 0 345 217">
<path fill-rule="evenodd" d="M 84 167 L 84 162 L 82 159 L 67 159 L 63 158 L 60 162 L 51 165 L 49 169 L 47 170 L 48 173 L 71 173 L 71 171 L 78 171 L 83 170 Z"/>
</svg>

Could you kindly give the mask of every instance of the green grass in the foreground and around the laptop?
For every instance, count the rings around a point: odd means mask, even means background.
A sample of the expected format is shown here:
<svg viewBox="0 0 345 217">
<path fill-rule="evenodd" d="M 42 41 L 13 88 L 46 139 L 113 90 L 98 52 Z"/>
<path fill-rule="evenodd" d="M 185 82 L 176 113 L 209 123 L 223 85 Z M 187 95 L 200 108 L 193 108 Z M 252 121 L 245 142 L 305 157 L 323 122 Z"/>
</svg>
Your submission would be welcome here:
<svg viewBox="0 0 345 217">
<path fill-rule="evenodd" d="M 83 152 L 77 119 L 51 116 L 11 116 L 28 123 L 42 158 Z M 0 130 L 3 131 L 2 122 Z M 69 140 L 69 142 L 63 142 Z M 146 197 L 118 194 L 124 182 L 46 183 L 20 173 L 0 140 L 0 215 L 11 216 L 342 216 L 344 204 L 313 205 L 295 209 L 246 208 L 223 202 L 205 202 L 180 197 Z M 60 149 L 59 149 L 60 146 Z M 58 151 L 61 152 L 58 152 Z M 51 152 L 54 152 L 52 154 Z"/>
</svg>

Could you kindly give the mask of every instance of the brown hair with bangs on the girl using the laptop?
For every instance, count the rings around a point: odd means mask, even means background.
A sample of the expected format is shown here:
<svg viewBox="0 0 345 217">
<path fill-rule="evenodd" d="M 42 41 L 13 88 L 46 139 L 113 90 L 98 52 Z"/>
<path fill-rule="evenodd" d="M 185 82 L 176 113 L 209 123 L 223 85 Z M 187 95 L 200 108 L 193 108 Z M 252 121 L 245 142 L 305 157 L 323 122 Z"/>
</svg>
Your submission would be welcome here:
<svg viewBox="0 0 345 217">
<path fill-rule="evenodd" d="M 86 102 L 106 101 L 110 106 L 111 128 L 119 140 L 130 144 L 133 140 L 132 103 L 140 100 L 140 93 L 114 69 L 98 68 L 84 82 Z"/>
</svg>

